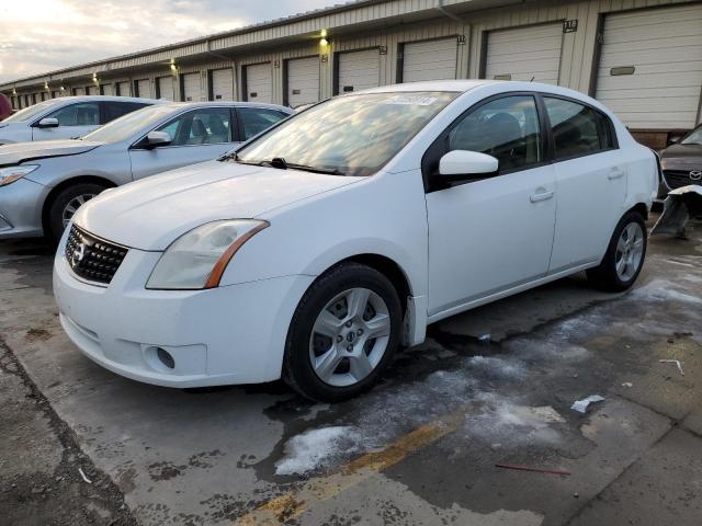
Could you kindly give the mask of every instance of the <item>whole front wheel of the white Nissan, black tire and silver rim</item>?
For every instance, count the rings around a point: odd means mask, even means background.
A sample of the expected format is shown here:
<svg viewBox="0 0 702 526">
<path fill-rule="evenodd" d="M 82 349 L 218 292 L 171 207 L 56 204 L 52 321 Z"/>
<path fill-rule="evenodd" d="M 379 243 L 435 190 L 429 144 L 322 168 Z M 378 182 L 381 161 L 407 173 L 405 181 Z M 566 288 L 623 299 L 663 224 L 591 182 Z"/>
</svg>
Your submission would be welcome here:
<svg viewBox="0 0 702 526">
<path fill-rule="evenodd" d="M 312 284 L 295 310 L 283 380 L 319 402 L 356 397 L 390 363 L 401 324 L 389 279 L 366 265 L 341 263 Z"/>
</svg>

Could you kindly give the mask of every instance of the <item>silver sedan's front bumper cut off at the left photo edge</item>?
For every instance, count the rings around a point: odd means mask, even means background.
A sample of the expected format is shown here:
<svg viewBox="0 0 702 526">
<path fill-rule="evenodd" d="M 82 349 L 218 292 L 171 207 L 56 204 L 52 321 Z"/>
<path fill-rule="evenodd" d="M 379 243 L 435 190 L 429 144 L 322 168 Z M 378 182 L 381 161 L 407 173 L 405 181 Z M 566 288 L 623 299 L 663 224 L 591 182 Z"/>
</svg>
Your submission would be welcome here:
<svg viewBox="0 0 702 526">
<path fill-rule="evenodd" d="M 42 204 L 49 191 L 25 178 L 0 186 L 0 239 L 43 236 Z"/>
</svg>

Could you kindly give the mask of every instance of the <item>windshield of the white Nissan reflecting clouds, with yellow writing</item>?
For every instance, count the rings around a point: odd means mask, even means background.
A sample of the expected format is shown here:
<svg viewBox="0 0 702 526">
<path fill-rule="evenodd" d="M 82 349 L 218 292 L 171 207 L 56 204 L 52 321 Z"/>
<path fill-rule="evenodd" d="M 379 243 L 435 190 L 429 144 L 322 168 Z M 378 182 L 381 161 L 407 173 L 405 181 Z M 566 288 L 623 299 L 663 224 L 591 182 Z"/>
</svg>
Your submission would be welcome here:
<svg viewBox="0 0 702 526">
<path fill-rule="evenodd" d="M 237 151 L 237 160 L 372 175 L 456 96 L 452 92 L 392 92 L 331 99 L 253 139 Z"/>
</svg>

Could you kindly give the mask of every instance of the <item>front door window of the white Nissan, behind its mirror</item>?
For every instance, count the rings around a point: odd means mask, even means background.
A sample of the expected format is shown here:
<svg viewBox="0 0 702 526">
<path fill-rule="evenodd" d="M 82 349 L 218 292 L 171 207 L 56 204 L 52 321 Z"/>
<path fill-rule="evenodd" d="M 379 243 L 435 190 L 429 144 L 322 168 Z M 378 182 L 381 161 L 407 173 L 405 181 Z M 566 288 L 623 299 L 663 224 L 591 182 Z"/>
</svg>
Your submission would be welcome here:
<svg viewBox="0 0 702 526">
<path fill-rule="evenodd" d="M 534 98 L 506 96 L 478 106 L 449 134 L 449 151 L 453 150 L 492 156 L 500 172 L 537 164 L 543 153 Z"/>
</svg>

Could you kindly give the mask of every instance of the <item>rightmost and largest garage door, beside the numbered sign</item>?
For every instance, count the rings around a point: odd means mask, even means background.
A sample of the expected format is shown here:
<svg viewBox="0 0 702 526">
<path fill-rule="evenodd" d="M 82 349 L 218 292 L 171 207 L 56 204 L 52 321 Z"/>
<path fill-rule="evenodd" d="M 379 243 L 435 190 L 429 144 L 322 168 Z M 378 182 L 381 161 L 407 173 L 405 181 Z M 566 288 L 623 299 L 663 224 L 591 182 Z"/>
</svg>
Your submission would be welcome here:
<svg viewBox="0 0 702 526">
<path fill-rule="evenodd" d="M 604 19 L 597 98 L 638 129 L 692 128 L 702 91 L 702 5 Z"/>
</svg>

